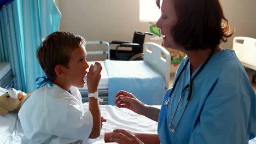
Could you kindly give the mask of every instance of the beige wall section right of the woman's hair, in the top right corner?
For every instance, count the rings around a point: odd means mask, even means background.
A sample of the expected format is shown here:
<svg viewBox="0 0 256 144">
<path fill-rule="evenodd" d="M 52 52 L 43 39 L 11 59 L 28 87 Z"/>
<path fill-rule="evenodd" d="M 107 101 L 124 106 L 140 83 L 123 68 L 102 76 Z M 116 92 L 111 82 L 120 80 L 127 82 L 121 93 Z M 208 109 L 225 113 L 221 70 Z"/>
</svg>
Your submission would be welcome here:
<svg viewBox="0 0 256 144">
<path fill-rule="evenodd" d="M 256 38 L 256 11 L 255 0 L 220 0 L 223 5 L 226 19 L 229 25 L 235 29 L 235 33 L 222 44 L 223 48 L 231 48 L 234 37 Z"/>
</svg>

